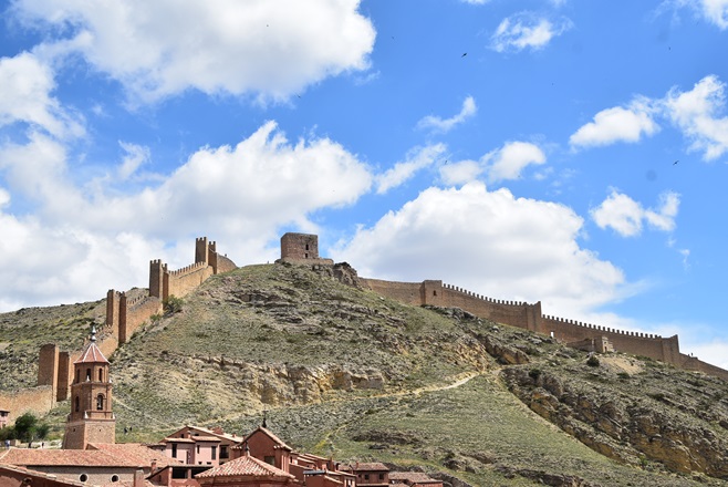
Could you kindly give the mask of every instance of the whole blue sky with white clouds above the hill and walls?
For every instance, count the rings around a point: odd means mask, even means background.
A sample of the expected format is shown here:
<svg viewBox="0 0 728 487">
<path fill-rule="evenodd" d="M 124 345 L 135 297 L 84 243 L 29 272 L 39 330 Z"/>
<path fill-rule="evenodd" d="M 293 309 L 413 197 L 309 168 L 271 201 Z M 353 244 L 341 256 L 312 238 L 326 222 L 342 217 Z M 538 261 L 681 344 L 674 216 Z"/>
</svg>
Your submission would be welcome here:
<svg viewBox="0 0 728 487">
<path fill-rule="evenodd" d="M 0 11 L 0 311 L 300 231 L 728 369 L 728 0 Z"/>
</svg>

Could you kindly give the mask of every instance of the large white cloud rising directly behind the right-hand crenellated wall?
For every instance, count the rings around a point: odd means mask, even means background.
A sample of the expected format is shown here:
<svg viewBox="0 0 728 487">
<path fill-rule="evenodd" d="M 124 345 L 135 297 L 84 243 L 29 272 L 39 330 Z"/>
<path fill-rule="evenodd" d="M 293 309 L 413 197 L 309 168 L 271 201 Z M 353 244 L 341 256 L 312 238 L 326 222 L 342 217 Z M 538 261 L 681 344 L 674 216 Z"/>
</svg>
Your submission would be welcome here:
<svg viewBox="0 0 728 487">
<path fill-rule="evenodd" d="M 544 302 L 579 315 L 615 299 L 622 271 L 580 248 L 583 220 L 570 208 L 516 198 L 481 183 L 429 188 L 335 250 L 364 277 L 443 279 L 492 298 Z"/>
</svg>

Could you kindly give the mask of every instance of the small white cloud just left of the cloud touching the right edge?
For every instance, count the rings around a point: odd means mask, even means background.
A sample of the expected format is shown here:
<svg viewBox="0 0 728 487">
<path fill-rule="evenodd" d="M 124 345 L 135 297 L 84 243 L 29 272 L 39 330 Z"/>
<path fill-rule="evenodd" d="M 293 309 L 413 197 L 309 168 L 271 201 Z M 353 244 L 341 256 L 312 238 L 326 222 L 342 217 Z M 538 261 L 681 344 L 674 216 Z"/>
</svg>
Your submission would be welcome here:
<svg viewBox="0 0 728 487">
<path fill-rule="evenodd" d="M 580 127 L 570 138 L 573 147 L 593 147 L 616 142 L 638 142 L 653 135 L 659 126 L 653 120 L 654 110 L 646 99 L 637 99 L 628 107 L 606 108 L 594 115 L 594 122 Z"/>
</svg>

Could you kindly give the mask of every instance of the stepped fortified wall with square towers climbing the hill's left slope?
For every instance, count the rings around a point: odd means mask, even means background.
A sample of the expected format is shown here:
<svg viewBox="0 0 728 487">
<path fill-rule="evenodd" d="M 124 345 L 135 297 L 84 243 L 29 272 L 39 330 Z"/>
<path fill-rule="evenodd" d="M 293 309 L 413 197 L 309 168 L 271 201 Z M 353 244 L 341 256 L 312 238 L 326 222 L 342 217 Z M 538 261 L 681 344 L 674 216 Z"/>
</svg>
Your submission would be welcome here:
<svg viewBox="0 0 728 487">
<path fill-rule="evenodd" d="M 160 260 L 149 262 L 148 296 L 127 298 L 125 292 L 111 289 L 106 293 L 106 322 L 101 330 L 96 345 L 105 356 L 111 356 L 118 345 L 128 342 L 134 332 L 154 314 L 163 311 L 164 301 L 170 296 L 181 298 L 194 291 L 198 286 L 217 273 L 237 269 L 235 262 L 217 252 L 215 241 L 207 237 L 195 242 L 195 263 L 179 270 L 168 270 Z M 32 398 L 40 394 L 42 401 L 37 401 L 41 411 L 50 411 L 56 401 L 69 397 L 73 373 L 73 362 L 81 356 L 81 350 L 62 352 L 58 345 L 43 345 L 40 351 L 38 366 L 38 392 L 28 393 Z M 2 400 L 3 397 L 0 397 Z M 4 404 L 3 400 L 3 404 Z M 22 398 L 15 403 L 32 405 Z M 32 407 L 13 407 L 13 416 Z"/>
</svg>

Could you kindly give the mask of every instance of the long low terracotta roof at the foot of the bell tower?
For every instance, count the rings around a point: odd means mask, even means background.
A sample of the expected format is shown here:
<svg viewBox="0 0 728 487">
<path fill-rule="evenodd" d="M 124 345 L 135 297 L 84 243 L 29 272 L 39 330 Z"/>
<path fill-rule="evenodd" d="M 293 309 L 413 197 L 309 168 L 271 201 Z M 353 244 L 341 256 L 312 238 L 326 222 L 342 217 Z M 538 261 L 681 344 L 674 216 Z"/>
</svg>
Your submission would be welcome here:
<svg viewBox="0 0 728 487">
<path fill-rule="evenodd" d="M 3 464 L 34 466 L 89 466 L 89 467 L 127 467 L 148 468 L 147 462 L 138 458 L 116 456 L 100 449 L 28 449 L 11 448 L 2 457 Z"/>
</svg>

